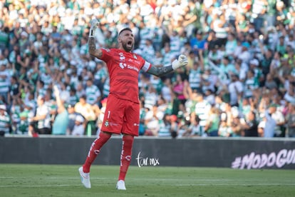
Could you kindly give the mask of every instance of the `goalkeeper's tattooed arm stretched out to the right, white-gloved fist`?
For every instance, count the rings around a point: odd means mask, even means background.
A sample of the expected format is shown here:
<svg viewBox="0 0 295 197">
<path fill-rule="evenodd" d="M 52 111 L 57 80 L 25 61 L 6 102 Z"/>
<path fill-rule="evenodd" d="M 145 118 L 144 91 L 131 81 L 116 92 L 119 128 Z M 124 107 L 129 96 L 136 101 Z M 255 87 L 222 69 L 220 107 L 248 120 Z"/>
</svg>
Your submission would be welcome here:
<svg viewBox="0 0 295 197">
<path fill-rule="evenodd" d="M 162 66 L 162 67 L 156 67 L 152 66 L 150 70 L 148 70 L 148 74 L 152 74 L 155 76 L 164 76 L 165 74 L 170 74 L 172 71 L 175 71 L 176 69 L 187 66 L 187 56 L 180 55 L 178 57 L 178 60 L 175 59 L 175 61 L 172 62 L 172 65 L 170 66 Z"/>
</svg>

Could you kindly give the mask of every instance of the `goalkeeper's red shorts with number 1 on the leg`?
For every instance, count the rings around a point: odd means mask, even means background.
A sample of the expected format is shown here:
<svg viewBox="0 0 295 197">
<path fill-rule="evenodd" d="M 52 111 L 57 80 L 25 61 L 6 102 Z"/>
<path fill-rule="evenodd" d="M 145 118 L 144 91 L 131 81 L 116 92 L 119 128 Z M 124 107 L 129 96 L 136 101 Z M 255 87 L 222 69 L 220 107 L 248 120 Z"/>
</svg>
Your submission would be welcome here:
<svg viewBox="0 0 295 197">
<path fill-rule="evenodd" d="M 109 94 L 101 131 L 138 136 L 139 123 L 139 103 L 119 99 Z"/>
</svg>

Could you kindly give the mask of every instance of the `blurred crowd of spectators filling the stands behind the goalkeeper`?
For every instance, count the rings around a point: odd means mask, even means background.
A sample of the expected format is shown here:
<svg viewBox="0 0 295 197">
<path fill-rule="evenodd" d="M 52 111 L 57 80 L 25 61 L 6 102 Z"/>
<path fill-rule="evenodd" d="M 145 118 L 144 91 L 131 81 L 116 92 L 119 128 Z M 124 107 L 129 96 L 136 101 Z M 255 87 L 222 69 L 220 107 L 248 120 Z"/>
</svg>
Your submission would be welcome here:
<svg viewBox="0 0 295 197">
<path fill-rule="evenodd" d="M 120 29 L 168 76 L 140 73 L 140 136 L 295 137 L 295 1 L 0 0 L 0 134 L 90 136 Z"/>
</svg>

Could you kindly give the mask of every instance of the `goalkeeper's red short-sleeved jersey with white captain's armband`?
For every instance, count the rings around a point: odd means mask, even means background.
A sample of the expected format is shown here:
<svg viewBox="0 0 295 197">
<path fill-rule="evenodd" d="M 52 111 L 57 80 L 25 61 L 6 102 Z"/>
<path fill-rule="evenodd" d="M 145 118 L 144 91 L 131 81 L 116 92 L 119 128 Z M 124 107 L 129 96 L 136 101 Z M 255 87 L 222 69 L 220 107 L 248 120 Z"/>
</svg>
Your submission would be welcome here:
<svg viewBox="0 0 295 197">
<path fill-rule="evenodd" d="M 110 75 L 110 94 L 117 98 L 139 103 L 138 76 L 140 70 L 148 71 L 151 64 L 138 54 L 120 49 L 101 49 Z"/>
</svg>

